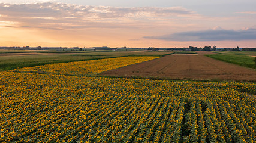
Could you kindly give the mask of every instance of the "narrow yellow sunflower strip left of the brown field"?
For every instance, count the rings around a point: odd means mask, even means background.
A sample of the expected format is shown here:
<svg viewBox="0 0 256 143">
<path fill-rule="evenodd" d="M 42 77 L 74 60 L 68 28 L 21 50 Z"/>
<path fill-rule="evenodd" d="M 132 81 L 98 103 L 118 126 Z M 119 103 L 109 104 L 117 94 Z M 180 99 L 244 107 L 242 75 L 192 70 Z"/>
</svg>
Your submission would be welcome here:
<svg viewBox="0 0 256 143">
<path fill-rule="evenodd" d="M 77 61 L 70 63 L 48 64 L 44 66 L 26 67 L 16 69 L 16 71 L 34 71 L 40 73 L 55 73 L 75 76 L 85 76 L 88 74 L 97 74 L 103 71 L 124 67 L 143 61 L 153 60 L 159 57 L 118 57 L 101 60 Z"/>
</svg>

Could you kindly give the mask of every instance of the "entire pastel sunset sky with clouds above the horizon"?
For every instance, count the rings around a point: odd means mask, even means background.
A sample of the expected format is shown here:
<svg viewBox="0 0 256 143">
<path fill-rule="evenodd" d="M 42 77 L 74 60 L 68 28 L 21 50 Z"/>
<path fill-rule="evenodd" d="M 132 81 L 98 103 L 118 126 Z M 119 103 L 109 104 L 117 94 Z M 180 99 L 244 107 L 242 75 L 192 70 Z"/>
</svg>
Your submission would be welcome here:
<svg viewBox="0 0 256 143">
<path fill-rule="evenodd" d="M 0 0 L 0 46 L 256 47 L 255 0 Z"/>
</svg>

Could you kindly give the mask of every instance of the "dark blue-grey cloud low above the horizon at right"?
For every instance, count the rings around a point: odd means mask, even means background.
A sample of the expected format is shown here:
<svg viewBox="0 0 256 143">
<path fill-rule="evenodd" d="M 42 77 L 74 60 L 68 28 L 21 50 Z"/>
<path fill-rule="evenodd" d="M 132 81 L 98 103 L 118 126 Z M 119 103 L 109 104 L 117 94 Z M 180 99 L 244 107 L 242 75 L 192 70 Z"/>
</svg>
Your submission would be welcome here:
<svg viewBox="0 0 256 143">
<path fill-rule="evenodd" d="M 161 39 L 165 41 L 242 41 L 255 40 L 256 29 L 244 30 L 224 30 L 218 28 L 216 30 L 177 32 L 163 36 L 144 36 L 144 39 Z"/>
</svg>

